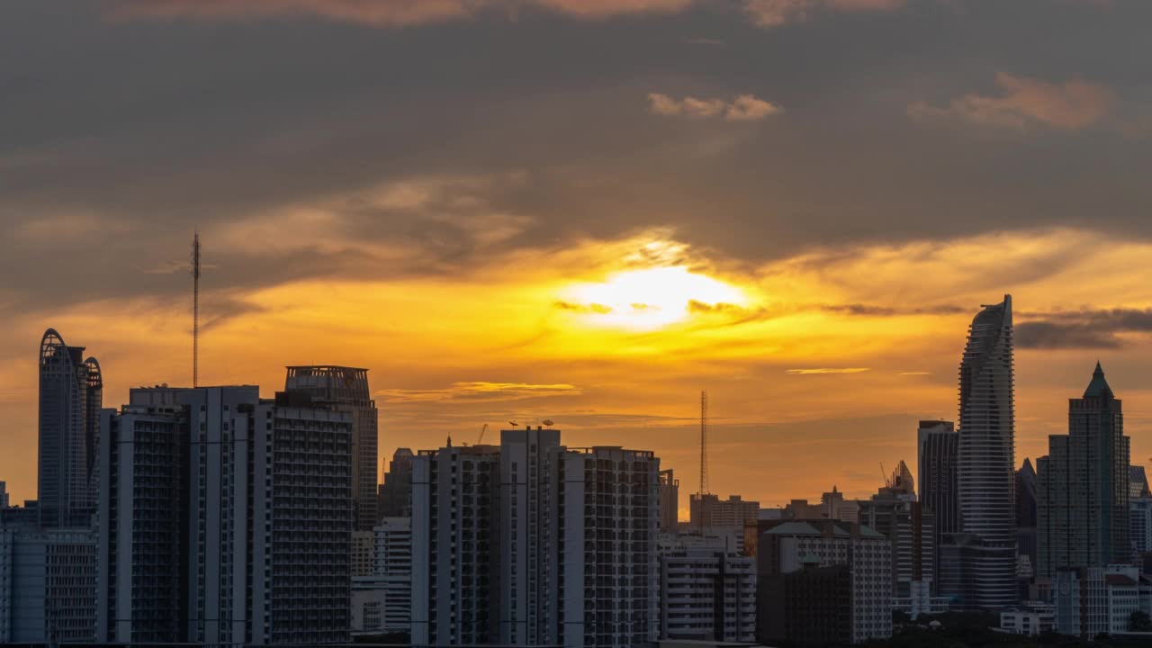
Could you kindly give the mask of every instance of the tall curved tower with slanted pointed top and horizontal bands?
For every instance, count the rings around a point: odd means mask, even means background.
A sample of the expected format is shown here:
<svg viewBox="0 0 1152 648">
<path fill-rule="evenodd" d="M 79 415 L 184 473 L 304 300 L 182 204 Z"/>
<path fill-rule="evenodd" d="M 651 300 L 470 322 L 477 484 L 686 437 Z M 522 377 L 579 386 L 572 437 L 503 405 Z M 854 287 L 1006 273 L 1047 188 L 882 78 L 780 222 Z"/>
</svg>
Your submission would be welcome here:
<svg viewBox="0 0 1152 648">
<path fill-rule="evenodd" d="M 985 306 L 960 364 L 957 495 L 967 550 L 967 608 L 1016 602 L 1011 295 Z"/>
</svg>

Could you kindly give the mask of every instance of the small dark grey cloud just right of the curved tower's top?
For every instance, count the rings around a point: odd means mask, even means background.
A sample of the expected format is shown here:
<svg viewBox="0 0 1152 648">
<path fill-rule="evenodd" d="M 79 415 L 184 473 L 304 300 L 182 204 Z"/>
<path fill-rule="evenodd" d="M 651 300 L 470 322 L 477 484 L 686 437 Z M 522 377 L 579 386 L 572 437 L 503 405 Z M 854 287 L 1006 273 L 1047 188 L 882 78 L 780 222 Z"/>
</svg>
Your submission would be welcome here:
<svg viewBox="0 0 1152 648">
<path fill-rule="evenodd" d="M 1028 321 L 1016 325 L 1021 348 L 1120 348 L 1131 341 L 1124 334 L 1152 333 L 1152 309 L 1022 314 Z"/>
</svg>

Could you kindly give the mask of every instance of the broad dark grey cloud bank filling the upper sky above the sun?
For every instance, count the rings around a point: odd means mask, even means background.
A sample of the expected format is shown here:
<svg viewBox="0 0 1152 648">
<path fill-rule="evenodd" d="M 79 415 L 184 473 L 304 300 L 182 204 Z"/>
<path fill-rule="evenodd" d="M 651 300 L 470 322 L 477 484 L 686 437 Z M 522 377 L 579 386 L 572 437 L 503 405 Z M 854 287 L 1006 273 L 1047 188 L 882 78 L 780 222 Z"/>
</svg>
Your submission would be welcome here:
<svg viewBox="0 0 1152 648">
<path fill-rule="evenodd" d="M 1002 74 L 1053 88 L 1091 80 L 1115 92 L 1116 112 L 1131 111 L 1147 92 L 1149 3 L 859 13 L 823 2 L 768 30 L 703 2 L 574 21 L 593 5 L 558 0 L 517 20 L 485 10 L 411 29 L 312 20 L 309 2 L 296 5 L 283 20 L 222 22 L 109 22 L 105 5 L 86 2 L 6 10 L 0 220 L 20 233 L 0 241 L 0 271 L 14 278 L 6 303 L 180 295 L 183 279 L 156 271 L 187 258 L 194 226 L 247 232 L 236 226 L 281 219 L 290 238 L 286 214 L 301 208 L 326 210 L 332 228 L 295 247 L 210 239 L 212 280 L 240 292 L 467 273 L 494 249 L 653 226 L 749 263 L 1040 226 L 1152 234 L 1146 142 L 920 128 L 907 116 L 917 101 L 996 96 Z M 684 45 L 700 33 L 727 46 Z M 748 95 L 786 111 L 661 119 L 651 93 Z M 364 202 L 412 178 L 517 173 L 523 181 L 449 186 L 418 208 Z M 493 214 L 511 219 L 499 248 L 484 239 L 497 225 L 469 225 Z M 410 254 L 397 262 L 373 246 Z M 58 261 L 38 263 L 48 255 Z"/>
</svg>

